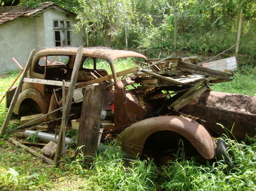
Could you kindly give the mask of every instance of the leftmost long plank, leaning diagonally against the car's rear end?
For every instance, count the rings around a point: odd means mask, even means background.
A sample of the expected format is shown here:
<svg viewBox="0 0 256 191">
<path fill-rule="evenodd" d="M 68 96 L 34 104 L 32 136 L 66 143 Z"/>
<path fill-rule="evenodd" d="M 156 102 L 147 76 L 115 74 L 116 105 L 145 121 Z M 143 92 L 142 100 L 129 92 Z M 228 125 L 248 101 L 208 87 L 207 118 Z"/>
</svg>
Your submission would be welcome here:
<svg viewBox="0 0 256 191">
<path fill-rule="evenodd" d="M 24 77 L 26 77 L 26 75 L 28 73 L 28 70 L 30 69 L 30 66 L 31 66 L 32 59 L 33 59 L 34 55 L 35 55 L 35 49 L 33 49 L 31 51 L 30 56 L 28 57 L 28 61 L 26 63 L 26 66 L 25 66 L 24 71 L 23 71 L 22 76 L 21 76 L 21 82 L 19 83 L 19 86 L 17 87 L 17 89 L 16 89 L 16 91 L 14 93 L 14 96 L 12 98 L 12 102 L 11 102 L 10 107 L 8 109 L 8 112 L 7 112 L 6 116 L 5 116 L 4 123 L 3 123 L 3 125 L 0 128 L 0 135 L 5 132 L 6 127 L 7 127 L 8 123 L 9 123 L 9 121 L 10 121 L 13 109 L 15 107 L 15 103 L 17 102 L 19 93 L 21 92 L 21 88 L 22 88 Z"/>
</svg>

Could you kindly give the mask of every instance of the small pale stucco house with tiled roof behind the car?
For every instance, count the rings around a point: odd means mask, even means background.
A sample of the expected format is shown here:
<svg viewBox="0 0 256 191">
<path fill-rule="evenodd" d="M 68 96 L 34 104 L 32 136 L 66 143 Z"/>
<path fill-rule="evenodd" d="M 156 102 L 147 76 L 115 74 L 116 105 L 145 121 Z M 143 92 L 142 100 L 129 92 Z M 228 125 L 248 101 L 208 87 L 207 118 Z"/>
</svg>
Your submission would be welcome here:
<svg viewBox="0 0 256 191">
<path fill-rule="evenodd" d="M 0 73 L 18 69 L 12 57 L 26 65 L 32 49 L 82 45 L 83 33 L 72 30 L 75 17 L 49 1 L 34 9 L 0 6 Z"/>
</svg>

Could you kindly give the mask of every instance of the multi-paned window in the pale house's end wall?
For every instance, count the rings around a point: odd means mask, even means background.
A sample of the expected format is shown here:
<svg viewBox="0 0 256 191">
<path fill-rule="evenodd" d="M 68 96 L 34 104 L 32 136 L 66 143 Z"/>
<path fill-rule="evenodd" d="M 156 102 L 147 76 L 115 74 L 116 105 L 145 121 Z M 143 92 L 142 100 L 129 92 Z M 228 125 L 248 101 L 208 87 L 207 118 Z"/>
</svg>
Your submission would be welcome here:
<svg viewBox="0 0 256 191">
<path fill-rule="evenodd" d="M 71 46 L 71 23 L 69 20 L 53 20 L 55 47 Z"/>
</svg>

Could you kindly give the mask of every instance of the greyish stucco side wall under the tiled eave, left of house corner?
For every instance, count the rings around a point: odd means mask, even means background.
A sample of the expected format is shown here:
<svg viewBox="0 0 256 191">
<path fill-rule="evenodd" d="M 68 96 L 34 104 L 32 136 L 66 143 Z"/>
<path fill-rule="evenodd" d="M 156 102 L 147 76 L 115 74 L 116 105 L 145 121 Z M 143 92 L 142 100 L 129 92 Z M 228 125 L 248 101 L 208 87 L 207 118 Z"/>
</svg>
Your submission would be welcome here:
<svg viewBox="0 0 256 191">
<path fill-rule="evenodd" d="M 35 18 L 16 19 L 0 25 L 0 73 L 19 70 L 12 57 L 24 66 L 35 47 Z"/>
</svg>

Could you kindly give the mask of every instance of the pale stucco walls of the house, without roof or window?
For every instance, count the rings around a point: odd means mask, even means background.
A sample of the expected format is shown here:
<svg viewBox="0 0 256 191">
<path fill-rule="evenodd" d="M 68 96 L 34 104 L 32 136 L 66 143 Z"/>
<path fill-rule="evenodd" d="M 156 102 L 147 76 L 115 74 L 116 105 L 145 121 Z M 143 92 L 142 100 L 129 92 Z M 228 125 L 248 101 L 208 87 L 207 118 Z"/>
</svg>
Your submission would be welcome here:
<svg viewBox="0 0 256 191">
<path fill-rule="evenodd" d="M 63 11 L 49 9 L 33 18 L 19 18 L 0 25 L 0 73 L 19 70 L 12 57 L 22 65 L 32 49 L 41 50 L 54 47 L 53 20 L 70 20 L 76 23 L 74 15 Z M 83 33 L 71 33 L 71 45 L 78 47 L 83 44 Z"/>
</svg>

